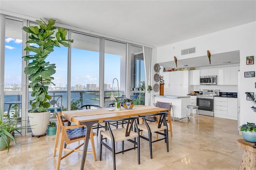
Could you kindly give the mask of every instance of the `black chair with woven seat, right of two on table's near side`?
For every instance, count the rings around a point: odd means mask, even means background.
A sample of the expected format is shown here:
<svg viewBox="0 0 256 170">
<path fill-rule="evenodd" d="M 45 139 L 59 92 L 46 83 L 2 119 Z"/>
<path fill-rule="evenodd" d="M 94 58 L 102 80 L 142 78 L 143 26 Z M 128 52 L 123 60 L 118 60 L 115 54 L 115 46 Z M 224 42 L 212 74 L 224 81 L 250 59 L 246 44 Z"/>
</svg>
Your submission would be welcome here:
<svg viewBox="0 0 256 170">
<path fill-rule="evenodd" d="M 169 152 L 169 143 L 168 143 L 168 126 L 165 120 L 166 115 L 168 112 L 160 112 L 154 113 L 150 115 L 140 115 L 144 120 L 144 123 L 138 125 L 139 131 L 148 132 L 148 138 L 145 136 L 140 135 L 140 138 L 149 141 L 149 148 L 150 148 L 150 158 L 152 159 L 152 143 L 158 142 L 160 140 L 164 140 L 166 142 L 166 149 Z M 147 121 L 146 117 L 158 117 L 158 123 Z M 164 132 L 161 132 L 164 131 Z M 160 138 L 158 140 L 152 141 L 152 133 L 155 132 L 156 134 L 161 134 L 164 138 Z"/>
</svg>

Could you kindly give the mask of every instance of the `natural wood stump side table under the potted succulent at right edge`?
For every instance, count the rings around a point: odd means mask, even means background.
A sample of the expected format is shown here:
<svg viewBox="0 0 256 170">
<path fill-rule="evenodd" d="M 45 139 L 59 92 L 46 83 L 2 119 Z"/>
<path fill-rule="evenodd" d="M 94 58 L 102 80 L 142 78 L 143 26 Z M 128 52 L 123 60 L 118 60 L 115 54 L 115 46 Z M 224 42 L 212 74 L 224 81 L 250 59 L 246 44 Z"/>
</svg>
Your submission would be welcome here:
<svg viewBox="0 0 256 170">
<path fill-rule="evenodd" d="M 237 146 L 244 149 L 242 163 L 238 170 L 255 170 L 256 169 L 256 149 L 252 146 L 254 143 L 247 142 L 244 139 L 238 139 Z"/>
</svg>

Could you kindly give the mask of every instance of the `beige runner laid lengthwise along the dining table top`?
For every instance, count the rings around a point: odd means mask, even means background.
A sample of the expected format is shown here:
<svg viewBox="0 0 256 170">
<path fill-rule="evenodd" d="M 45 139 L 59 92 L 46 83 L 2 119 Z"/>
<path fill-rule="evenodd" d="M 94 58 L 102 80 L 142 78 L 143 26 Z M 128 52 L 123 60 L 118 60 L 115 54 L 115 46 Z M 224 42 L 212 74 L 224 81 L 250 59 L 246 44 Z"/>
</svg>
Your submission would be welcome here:
<svg viewBox="0 0 256 170">
<path fill-rule="evenodd" d="M 124 108 L 122 108 L 120 111 L 115 111 L 114 107 L 104 108 L 104 109 L 79 110 L 78 112 L 74 112 L 74 113 L 65 113 L 64 119 L 71 122 L 72 117 L 101 115 L 101 114 L 108 114 L 108 113 L 122 113 L 122 112 L 127 112 L 127 111 L 153 109 L 153 108 L 156 108 L 156 107 L 153 107 L 153 106 L 146 106 L 145 107 L 145 106 L 136 106 L 135 105 L 134 109 L 124 109 Z M 114 111 L 108 111 L 108 109 L 114 109 Z"/>
</svg>

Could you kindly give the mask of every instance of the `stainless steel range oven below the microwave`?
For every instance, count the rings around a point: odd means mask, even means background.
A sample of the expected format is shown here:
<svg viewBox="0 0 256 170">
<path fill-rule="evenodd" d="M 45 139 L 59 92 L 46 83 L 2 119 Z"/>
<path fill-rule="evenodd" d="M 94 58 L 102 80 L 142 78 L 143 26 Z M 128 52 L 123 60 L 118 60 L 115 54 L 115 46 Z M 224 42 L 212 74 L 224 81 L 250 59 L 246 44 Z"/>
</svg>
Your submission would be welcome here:
<svg viewBox="0 0 256 170">
<path fill-rule="evenodd" d="M 214 116 L 214 96 L 219 96 L 220 90 L 203 90 L 202 95 L 196 95 L 196 105 L 200 115 Z"/>
</svg>

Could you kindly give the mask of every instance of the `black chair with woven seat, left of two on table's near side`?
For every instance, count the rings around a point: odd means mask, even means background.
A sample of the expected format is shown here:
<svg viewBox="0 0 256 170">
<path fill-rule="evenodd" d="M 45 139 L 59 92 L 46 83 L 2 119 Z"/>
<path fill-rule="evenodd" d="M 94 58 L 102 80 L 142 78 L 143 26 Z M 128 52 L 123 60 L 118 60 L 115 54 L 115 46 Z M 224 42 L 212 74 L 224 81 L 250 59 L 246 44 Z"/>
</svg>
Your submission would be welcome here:
<svg viewBox="0 0 256 170">
<path fill-rule="evenodd" d="M 122 153 L 133 150 L 135 148 L 138 148 L 138 164 L 140 164 L 140 137 L 139 137 L 139 131 L 137 127 L 136 120 L 137 117 L 129 117 L 129 118 L 122 118 L 122 119 L 112 119 L 112 120 L 105 120 L 104 122 L 107 123 L 108 130 L 100 131 L 100 160 L 102 156 L 102 145 L 104 145 L 108 150 L 112 152 L 113 155 L 113 168 L 116 169 L 116 154 Z M 111 122 L 119 122 L 119 121 L 127 121 L 126 127 L 117 128 L 117 129 L 111 129 Z M 132 131 L 132 126 L 135 126 L 135 131 Z M 104 138 L 103 138 L 104 136 Z M 137 140 L 136 140 L 137 138 Z M 107 141 L 103 139 L 108 139 L 111 141 L 112 145 L 109 146 L 107 144 Z M 133 139 L 133 140 L 132 140 Z M 132 142 L 134 144 L 134 147 L 128 148 L 124 150 L 124 141 L 128 140 L 129 142 Z M 122 151 L 116 152 L 116 142 L 122 141 Z M 137 146 L 136 146 L 137 145 Z"/>
</svg>

